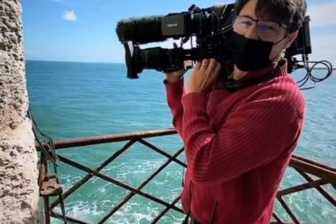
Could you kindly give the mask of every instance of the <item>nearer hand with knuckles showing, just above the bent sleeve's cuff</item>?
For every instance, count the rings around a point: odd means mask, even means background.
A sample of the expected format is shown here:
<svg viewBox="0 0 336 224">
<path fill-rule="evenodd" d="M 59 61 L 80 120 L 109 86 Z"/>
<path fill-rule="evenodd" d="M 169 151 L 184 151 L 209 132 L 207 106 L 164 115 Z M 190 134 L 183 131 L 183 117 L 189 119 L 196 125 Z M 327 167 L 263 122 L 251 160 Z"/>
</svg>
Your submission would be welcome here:
<svg viewBox="0 0 336 224">
<path fill-rule="evenodd" d="M 189 79 L 190 93 L 207 93 L 214 85 L 221 69 L 222 65 L 216 59 L 204 59 L 198 62 Z"/>
</svg>

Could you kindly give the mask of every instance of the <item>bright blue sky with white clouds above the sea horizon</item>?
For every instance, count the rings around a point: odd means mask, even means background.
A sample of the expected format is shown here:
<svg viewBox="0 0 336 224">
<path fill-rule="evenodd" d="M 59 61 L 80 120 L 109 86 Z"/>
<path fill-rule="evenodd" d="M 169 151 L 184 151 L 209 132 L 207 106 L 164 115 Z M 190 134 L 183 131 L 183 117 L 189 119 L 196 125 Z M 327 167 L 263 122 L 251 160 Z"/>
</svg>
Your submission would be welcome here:
<svg viewBox="0 0 336 224">
<path fill-rule="evenodd" d="M 115 34 L 121 18 L 208 7 L 219 0 L 21 0 L 27 60 L 124 62 Z M 307 0 L 311 15 L 311 59 L 336 67 L 336 0 Z M 171 43 L 161 44 L 170 47 Z"/>
</svg>

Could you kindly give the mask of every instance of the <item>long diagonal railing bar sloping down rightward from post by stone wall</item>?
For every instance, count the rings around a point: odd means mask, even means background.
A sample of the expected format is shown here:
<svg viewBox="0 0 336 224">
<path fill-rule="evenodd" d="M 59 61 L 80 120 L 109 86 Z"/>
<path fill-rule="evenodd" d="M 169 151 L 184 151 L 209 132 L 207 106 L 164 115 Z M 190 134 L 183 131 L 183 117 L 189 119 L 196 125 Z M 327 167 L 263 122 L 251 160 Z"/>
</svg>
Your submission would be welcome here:
<svg viewBox="0 0 336 224">
<path fill-rule="evenodd" d="M 62 155 L 58 155 L 58 156 L 59 156 L 59 159 L 62 162 L 67 163 L 67 164 L 69 164 L 69 165 L 71 165 L 73 167 L 76 167 L 77 169 L 80 169 L 80 170 L 85 171 L 87 173 L 92 173 L 93 175 L 95 175 L 97 177 L 100 177 L 100 178 L 102 178 L 105 181 L 111 182 L 111 183 L 113 183 L 113 184 L 115 184 L 115 185 L 117 185 L 119 187 L 122 187 L 122 188 L 124 188 L 124 189 L 126 189 L 128 191 L 134 192 L 135 194 L 138 194 L 138 195 L 140 195 L 142 197 L 145 197 L 145 198 L 147 198 L 149 200 L 152 200 L 152 201 L 154 201 L 154 202 L 156 202 L 158 204 L 161 204 L 161 205 L 166 206 L 166 207 L 171 207 L 169 203 L 167 203 L 167 202 L 165 202 L 165 201 L 163 201 L 163 200 L 161 200 L 159 198 L 156 198 L 156 197 L 154 197 L 154 196 L 152 196 L 150 194 L 138 191 L 137 189 L 135 189 L 133 187 L 130 187 L 130 186 L 124 184 L 124 183 L 121 183 L 120 181 L 117 181 L 117 180 L 115 180 L 115 179 L 113 179 L 111 177 L 108 177 L 108 176 L 106 176 L 106 175 L 104 175 L 102 173 L 96 172 L 95 170 L 92 170 L 89 167 L 83 166 L 82 164 L 77 163 L 75 161 L 72 161 L 72 160 L 70 160 L 68 158 L 65 158 Z M 173 206 L 171 208 L 174 209 L 177 212 L 183 213 L 183 211 L 180 208 L 177 208 L 175 206 Z"/>
</svg>

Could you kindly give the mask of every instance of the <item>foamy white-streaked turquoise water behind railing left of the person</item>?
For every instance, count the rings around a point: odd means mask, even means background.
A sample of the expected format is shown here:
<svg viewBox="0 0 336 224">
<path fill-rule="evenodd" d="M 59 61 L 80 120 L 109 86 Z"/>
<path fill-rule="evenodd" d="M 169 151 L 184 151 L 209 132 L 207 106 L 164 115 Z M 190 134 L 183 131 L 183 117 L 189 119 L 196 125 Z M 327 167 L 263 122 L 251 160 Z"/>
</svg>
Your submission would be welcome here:
<svg viewBox="0 0 336 224">
<path fill-rule="evenodd" d="M 107 169 L 104 169 L 104 173 L 107 175 L 113 173 L 116 179 L 121 181 L 129 181 L 129 177 L 139 177 L 139 176 L 149 176 L 152 174 L 159 166 L 163 164 L 164 160 L 132 160 L 132 163 L 118 162 Z M 181 192 L 181 185 L 168 186 L 170 180 L 176 179 L 176 176 L 182 175 L 182 170 L 164 170 L 161 173 L 162 177 L 152 180 L 151 190 L 156 193 L 156 197 L 161 200 L 171 202 L 176 197 L 179 196 Z M 74 183 L 82 179 L 84 175 L 61 175 L 63 180 L 64 189 L 70 188 Z M 109 194 L 112 191 L 112 183 L 106 182 L 102 184 L 100 178 L 93 177 L 89 181 L 91 184 L 97 185 L 93 191 L 88 191 L 86 195 L 75 196 L 66 201 L 66 214 L 75 219 L 79 219 L 86 222 L 98 222 L 104 217 L 112 208 L 120 201 L 120 197 L 115 197 L 111 195 L 109 200 L 99 200 L 96 199 L 92 201 L 92 198 L 99 197 L 101 194 Z M 82 186 L 85 188 L 86 186 Z M 91 187 L 91 186 L 90 186 Z M 154 188 L 154 189 L 152 189 Z M 149 192 L 150 193 L 150 192 Z M 76 192 L 74 193 L 76 195 Z M 150 223 L 159 213 L 163 210 L 163 207 L 149 202 L 144 198 L 133 197 L 128 203 L 126 203 L 119 211 L 117 211 L 107 223 L 111 224 L 143 224 Z M 86 200 L 91 199 L 91 200 Z M 135 201 L 133 201 L 133 199 Z M 177 203 L 178 207 L 181 208 L 181 203 Z M 59 207 L 55 208 L 55 211 L 61 213 Z M 174 220 L 179 220 L 181 217 L 163 217 L 163 223 L 172 223 Z"/>
</svg>

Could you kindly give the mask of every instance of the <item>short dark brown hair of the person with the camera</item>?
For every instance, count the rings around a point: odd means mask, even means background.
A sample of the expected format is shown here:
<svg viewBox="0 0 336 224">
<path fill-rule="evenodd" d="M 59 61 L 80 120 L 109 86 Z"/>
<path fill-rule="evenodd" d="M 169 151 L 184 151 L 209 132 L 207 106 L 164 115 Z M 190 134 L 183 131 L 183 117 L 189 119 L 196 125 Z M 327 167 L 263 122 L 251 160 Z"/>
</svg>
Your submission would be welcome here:
<svg viewBox="0 0 336 224">
<path fill-rule="evenodd" d="M 236 0 L 235 13 L 239 14 L 248 1 Z M 284 23 L 288 25 L 289 32 L 294 32 L 300 28 L 306 10 L 306 0 L 257 0 L 255 14 Z"/>
</svg>

